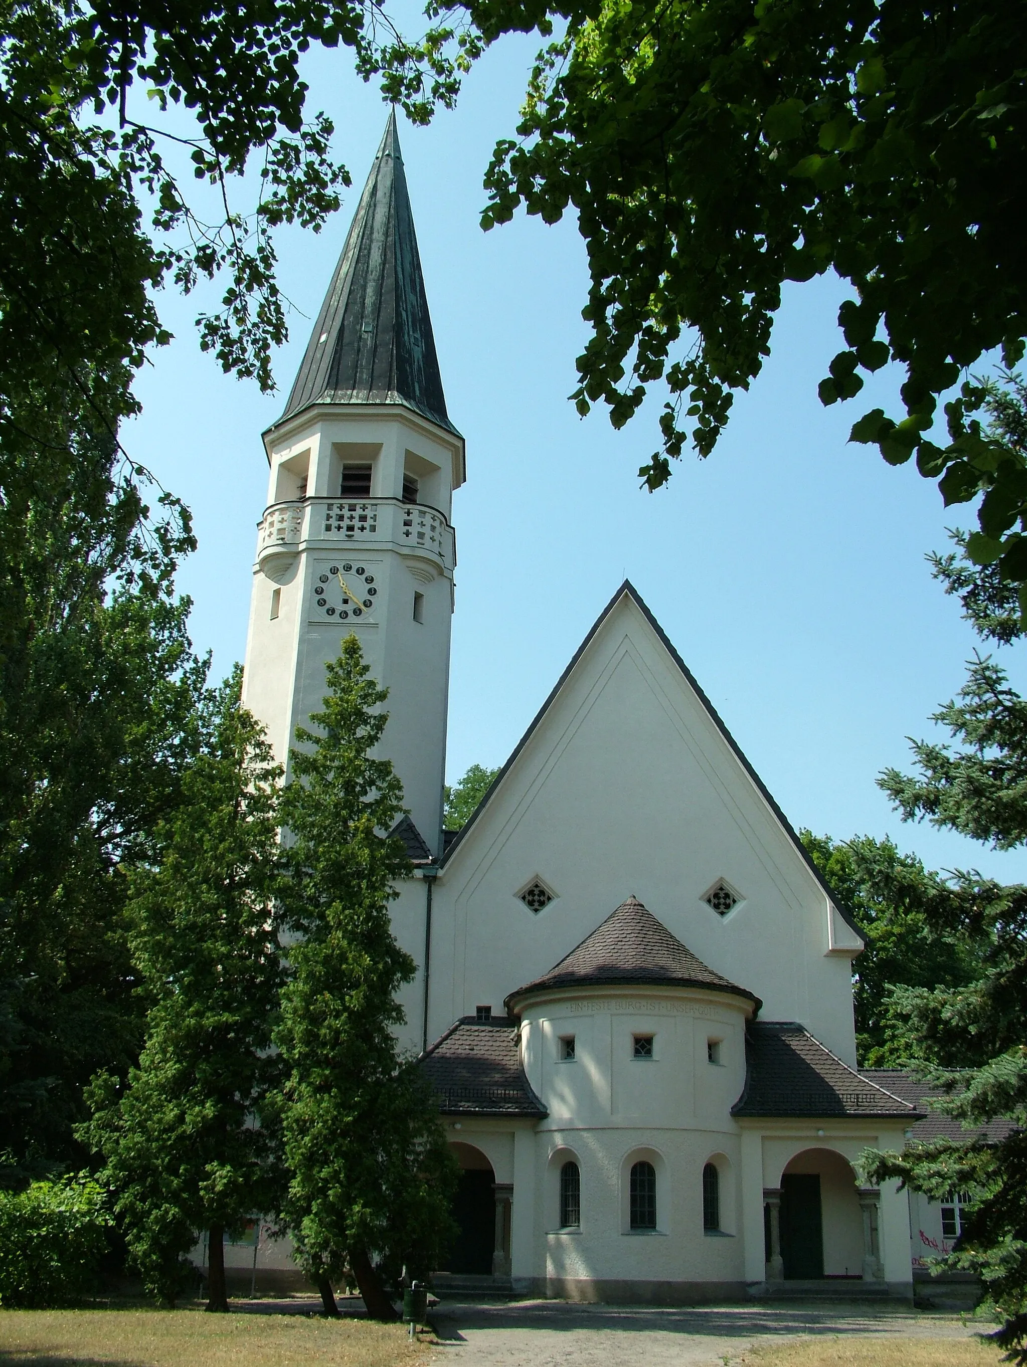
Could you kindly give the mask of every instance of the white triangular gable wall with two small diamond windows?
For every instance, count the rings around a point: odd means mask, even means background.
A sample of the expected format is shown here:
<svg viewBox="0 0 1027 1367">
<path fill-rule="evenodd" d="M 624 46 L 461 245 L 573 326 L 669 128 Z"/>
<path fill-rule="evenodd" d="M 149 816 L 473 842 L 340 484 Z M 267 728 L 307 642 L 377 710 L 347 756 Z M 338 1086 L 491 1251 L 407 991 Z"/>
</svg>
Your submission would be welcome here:
<svg viewBox="0 0 1027 1367">
<path fill-rule="evenodd" d="M 535 874 L 558 894 L 539 915 L 516 895 Z M 723 919 L 702 899 L 718 878 L 743 894 Z M 632 893 L 763 1018 L 855 1066 L 859 942 L 625 595 L 438 879 L 431 1038 L 501 1010 Z"/>
</svg>

